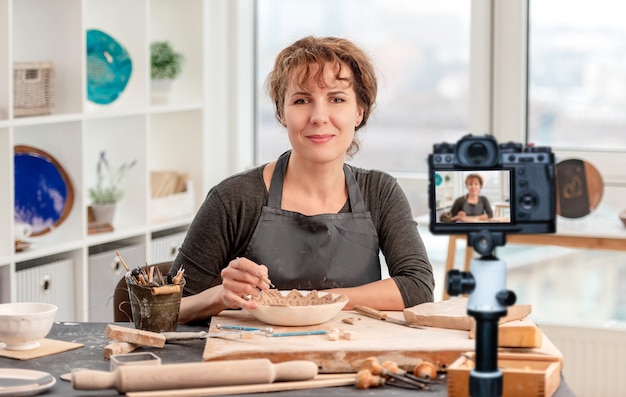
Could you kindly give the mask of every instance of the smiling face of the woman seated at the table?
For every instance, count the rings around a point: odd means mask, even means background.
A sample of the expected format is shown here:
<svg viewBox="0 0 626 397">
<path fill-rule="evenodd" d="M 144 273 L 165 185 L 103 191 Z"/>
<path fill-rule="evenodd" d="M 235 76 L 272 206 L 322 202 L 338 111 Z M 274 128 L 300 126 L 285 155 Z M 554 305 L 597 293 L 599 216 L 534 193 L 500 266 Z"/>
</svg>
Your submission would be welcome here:
<svg viewBox="0 0 626 397">
<path fill-rule="evenodd" d="M 285 93 L 283 123 L 293 153 L 316 163 L 338 159 L 343 163 L 355 128 L 363 119 L 363 107 L 358 105 L 352 85 L 335 78 L 333 64 L 326 64 L 323 82 L 314 77 L 318 67 L 310 65 L 310 69 L 311 77 L 304 86 L 292 78 Z M 350 68 L 342 65 L 340 77 L 352 78 Z"/>
</svg>

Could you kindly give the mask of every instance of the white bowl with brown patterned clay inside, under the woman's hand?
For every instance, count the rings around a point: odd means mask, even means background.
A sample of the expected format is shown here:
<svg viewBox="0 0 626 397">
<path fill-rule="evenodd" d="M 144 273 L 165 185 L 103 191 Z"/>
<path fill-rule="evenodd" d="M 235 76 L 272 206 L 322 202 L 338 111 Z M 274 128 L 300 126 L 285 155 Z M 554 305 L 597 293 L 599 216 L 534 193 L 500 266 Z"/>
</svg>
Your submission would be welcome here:
<svg viewBox="0 0 626 397">
<path fill-rule="evenodd" d="M 293 327 L 325 323 L 348 303 L 345 295 L 275 289 L 265 291 L 252 299 L 257 302 L 257 308 L 249 312 L 257 320 L 271 325 Z"/>
</svg>

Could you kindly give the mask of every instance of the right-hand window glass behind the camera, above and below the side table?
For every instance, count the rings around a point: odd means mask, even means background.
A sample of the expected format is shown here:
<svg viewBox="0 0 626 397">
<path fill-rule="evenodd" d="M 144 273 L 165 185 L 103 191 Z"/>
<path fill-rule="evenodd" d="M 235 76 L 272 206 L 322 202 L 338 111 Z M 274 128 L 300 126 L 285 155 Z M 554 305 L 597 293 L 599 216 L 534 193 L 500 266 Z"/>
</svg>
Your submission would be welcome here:
<svg viewBox="0 0 626 397">
<path fill-rule="evenodd" d="M 528 136 L 560 159 L 590 161 L 600 171 L 600 206 L 558 230 L 619 233 L 626 192 L 626 5 L 531 0 L 529 4 Z M 612 227 L 612 226 L 611 226 Z M 507 247 L 509 281 L 549 321 L 626 321 L 623 252 Z M 519 262 L 518 262 L 519 260 Z M 516 266 L 519 264 L 522 266 Z"/>
</svg>

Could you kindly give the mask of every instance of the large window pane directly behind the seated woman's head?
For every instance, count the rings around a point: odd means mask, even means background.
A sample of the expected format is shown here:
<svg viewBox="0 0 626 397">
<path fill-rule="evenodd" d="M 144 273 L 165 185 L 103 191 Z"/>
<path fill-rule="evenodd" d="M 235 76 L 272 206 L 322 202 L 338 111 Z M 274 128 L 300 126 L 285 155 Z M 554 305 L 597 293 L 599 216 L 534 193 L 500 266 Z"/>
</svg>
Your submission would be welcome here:
<svg viewBox="0 0 626 397">
<path fill-rule="evenodd" d="M 373 58 L 377 108 L 349 162 L 424 172 L 435 142 L 468 131 L 470 4 L 466 0 L 258 0 L 256 163 L 275 160 L 286 131 L 264 89 L 278 52 L 300 37 L 341 36 Z M 422 212 L 425 209 L 422 209 Z"/>
</svg>

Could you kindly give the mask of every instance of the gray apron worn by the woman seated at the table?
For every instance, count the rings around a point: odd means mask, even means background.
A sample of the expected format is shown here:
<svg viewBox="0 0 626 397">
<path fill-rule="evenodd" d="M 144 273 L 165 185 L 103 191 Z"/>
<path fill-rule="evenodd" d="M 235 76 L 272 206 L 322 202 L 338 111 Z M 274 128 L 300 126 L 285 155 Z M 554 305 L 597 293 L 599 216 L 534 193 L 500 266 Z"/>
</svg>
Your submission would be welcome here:
<svg viewBox="0 0 626 397">
<path fill-rule="evenodd" d="M 288 151 L 276 162 L 267 205 L 246 257 L 269 269 L 278 289 L 354 287 L 380 280 L 378 234 L 352 171 L 344 164 L 351 213 L 306 216 L 281 209 Z"/>
</svg>

